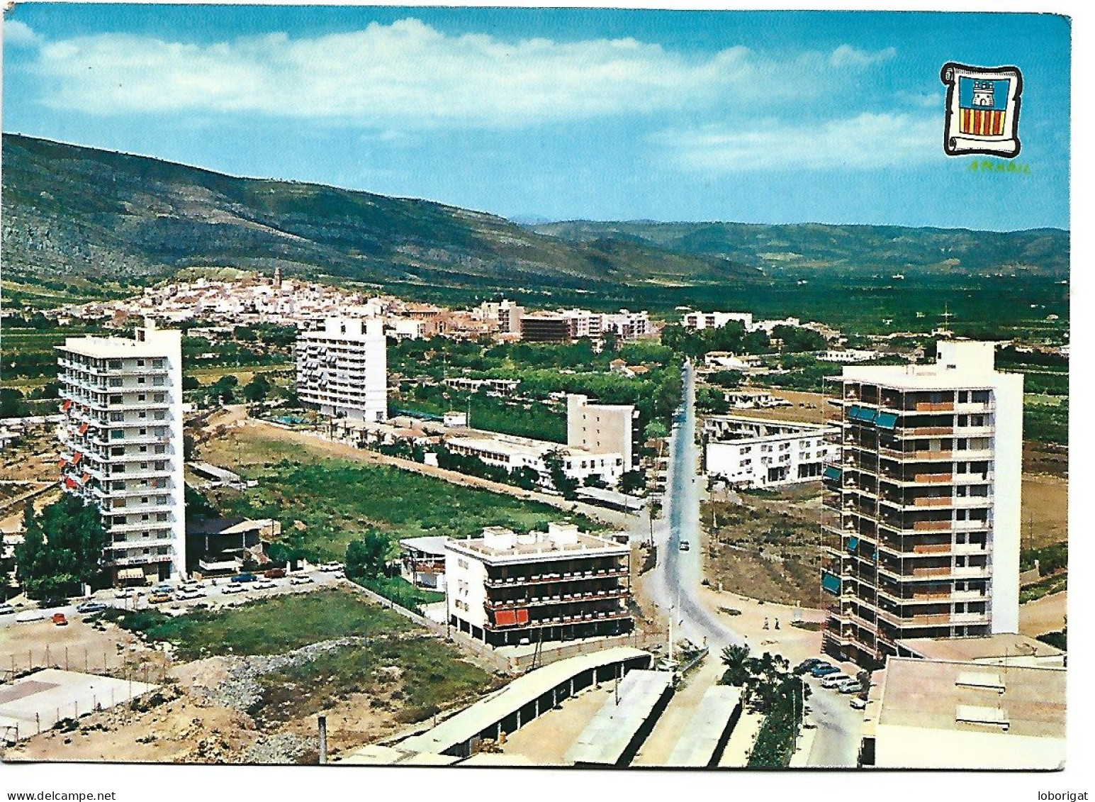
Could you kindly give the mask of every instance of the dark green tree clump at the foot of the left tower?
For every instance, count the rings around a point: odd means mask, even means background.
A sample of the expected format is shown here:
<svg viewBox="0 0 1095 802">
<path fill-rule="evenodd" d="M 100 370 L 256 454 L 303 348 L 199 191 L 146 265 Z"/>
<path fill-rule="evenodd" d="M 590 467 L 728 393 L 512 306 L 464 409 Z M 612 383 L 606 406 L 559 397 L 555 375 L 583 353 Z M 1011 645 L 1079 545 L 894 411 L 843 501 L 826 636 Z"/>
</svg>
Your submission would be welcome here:
<svg viewBox="0 0 1095 802">
<path fill-rule="evenodd" d="M 93 583 L 101 572 L 106 532 L 99 508 L 66 493 L 34 514 L 23 512 L 24 540 L 15 547 L 16 577 L 27 596 L 55 598 Z"/>
</svg>

